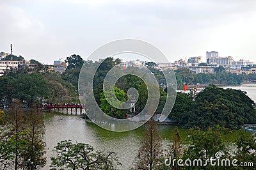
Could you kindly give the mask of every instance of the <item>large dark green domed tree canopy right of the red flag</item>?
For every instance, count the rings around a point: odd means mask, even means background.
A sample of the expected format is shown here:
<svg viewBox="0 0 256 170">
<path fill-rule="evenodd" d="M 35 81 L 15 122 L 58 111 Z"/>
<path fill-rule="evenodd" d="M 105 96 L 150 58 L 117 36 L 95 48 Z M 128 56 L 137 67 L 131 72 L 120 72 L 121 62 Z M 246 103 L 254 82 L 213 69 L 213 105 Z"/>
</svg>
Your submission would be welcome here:
<svg viewBox="0 0 256 170">
<path fill-rule="evenodd" d="M 186 127 L 221 127 L 237 129 L 256 122 L 255 103 L 237 89 L 208 86 L 196 94 L 177 93 L 169 117 Z"/>
</svg>

